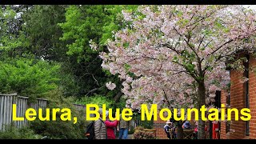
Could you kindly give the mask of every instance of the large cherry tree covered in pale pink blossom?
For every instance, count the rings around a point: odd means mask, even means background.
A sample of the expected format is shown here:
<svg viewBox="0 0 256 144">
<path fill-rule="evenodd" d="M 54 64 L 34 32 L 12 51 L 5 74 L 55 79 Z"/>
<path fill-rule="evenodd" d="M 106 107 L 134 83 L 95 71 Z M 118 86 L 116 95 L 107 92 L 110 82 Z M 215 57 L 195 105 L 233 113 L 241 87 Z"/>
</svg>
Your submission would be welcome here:
<svg viewBox="0 0 256 144">
<path fill-rule="evenodd" d="M 140 6 L 122 14 L 126 28 L 100 56 L 103 69 L 122 79 L 133 109 L 142 103 L 199 109 L 214 102 L 216 90 L 230 81 L 226 62 L 238 50 L 254 50 L 256 15 L 242 6 Z M 198 126 L 204 138 L 201 113 Z"/>
</svg>

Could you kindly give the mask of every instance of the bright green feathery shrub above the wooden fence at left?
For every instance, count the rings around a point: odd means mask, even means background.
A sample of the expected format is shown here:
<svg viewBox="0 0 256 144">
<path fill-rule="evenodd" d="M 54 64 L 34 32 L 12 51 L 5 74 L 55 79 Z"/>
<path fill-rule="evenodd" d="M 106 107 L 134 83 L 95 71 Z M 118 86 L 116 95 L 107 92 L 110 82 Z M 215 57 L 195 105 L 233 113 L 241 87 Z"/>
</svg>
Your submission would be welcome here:
<svg viewBox="0 0 256 144">
<path fill-rule="evenodd" d="M 8 58 L 0 61 L 0 93 L 40 98 L 58 88 L 60 66 L 42 60 Z"/>
</svg>

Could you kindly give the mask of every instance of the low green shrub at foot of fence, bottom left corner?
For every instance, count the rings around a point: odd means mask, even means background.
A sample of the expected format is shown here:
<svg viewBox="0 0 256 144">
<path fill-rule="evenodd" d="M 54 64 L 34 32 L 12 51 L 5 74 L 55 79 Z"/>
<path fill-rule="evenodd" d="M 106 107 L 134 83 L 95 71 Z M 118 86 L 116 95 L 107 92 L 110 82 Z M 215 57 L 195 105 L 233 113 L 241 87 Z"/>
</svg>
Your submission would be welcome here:
<svg viewBox="0 0 256 144">
<path fill-rule="evenodd" d="M 6 126 L 5 131 L 0 131 L 0 139 L 40 139 L 41 135 L 35 134 L 29 127 L 17 128 L 15 126 Z"/>
</svg>

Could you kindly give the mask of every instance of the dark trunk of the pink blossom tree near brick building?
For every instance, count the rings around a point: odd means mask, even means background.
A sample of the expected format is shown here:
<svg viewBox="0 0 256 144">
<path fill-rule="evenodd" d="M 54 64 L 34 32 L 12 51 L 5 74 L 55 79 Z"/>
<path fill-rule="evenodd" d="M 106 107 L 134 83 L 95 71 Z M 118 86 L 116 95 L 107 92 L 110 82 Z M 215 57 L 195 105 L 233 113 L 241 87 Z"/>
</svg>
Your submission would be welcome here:
<svg viewBox="0 0 256 144">
<path fill-rule="evenodd" d="M 206 104 L 206 87 L 202 82 L 198 82 L 198 111 L 200 108 Z M 205 139 L 205 121 L 202 121 L 202 112 L 199 111 L 198 114 L 198 139 Z"/>
</svg>

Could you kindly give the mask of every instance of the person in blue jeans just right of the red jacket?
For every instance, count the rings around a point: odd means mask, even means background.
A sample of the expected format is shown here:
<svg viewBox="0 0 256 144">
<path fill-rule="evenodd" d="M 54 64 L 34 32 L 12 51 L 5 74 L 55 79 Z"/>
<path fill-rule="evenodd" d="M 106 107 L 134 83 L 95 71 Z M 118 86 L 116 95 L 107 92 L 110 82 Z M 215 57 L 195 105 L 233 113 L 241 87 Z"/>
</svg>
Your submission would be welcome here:
<svg viewBox="0 0 256 144">
<path fill-rule="evenodd" d="M 118 123 L 119 139 L 127 139 L 128 131 L 130 131 L 130 121 L 125 121 L 120 114 L 120 122 Z"/>
</svg>

